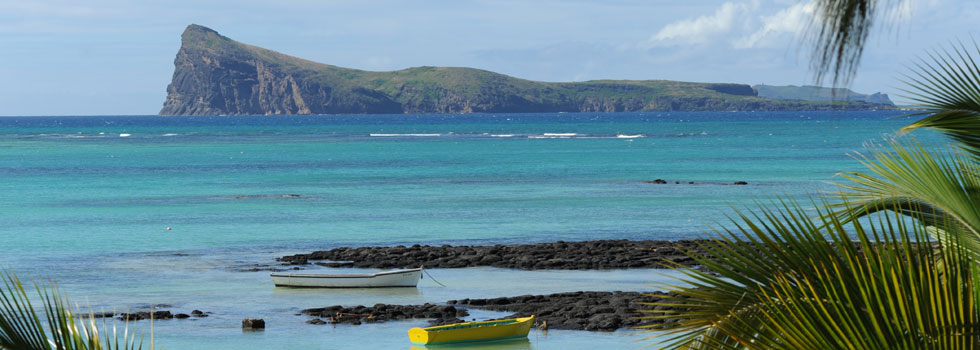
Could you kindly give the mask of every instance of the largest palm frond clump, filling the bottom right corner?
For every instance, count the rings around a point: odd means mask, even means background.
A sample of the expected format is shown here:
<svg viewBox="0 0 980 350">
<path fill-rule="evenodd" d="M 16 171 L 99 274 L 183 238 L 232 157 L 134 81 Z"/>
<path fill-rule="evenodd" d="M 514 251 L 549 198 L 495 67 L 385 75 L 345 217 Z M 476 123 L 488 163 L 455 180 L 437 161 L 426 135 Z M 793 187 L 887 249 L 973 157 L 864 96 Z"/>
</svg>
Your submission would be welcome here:
<svg viewBox="0 0 980 350">
<path fill-rule="evenodd" d="M 688 285 L 643 311 L 666 321 L 663 348 L 980 347 L 977 269 L 960 235 L 938 233 L 953 244 L 936 250 L 927 226 L 895 212 L 845 223 L 778 206 L 740 213 L 693 253 L 710 272 L 673 267 Z"/>
</svg>

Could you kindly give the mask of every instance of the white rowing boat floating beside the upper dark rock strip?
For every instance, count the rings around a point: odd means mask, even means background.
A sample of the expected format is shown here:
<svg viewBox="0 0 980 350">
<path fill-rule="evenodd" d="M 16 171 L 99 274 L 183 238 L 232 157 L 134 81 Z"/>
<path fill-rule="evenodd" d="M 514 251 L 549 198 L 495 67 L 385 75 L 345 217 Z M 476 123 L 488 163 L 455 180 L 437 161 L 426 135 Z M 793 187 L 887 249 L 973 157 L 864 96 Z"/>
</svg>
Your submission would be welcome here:
<svg viewBox="0 0 980 350">
<path fill-rule="evenodd" d="M 276 287 L 385 288 L 415 287 L 422 268 L 377 273 L 272 273 Z"/>
</svg>

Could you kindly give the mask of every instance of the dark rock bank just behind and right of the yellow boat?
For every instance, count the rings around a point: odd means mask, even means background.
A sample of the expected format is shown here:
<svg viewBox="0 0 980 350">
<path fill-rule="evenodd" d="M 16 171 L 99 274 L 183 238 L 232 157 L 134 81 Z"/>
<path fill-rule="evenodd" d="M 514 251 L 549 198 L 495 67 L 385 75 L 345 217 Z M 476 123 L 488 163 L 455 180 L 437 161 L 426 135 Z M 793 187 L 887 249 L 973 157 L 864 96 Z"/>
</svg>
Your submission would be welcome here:
<svg viewBox="0 0 980 350">
<path fill-rule="evenodd" d="M 637 310 L 653 310 L 638 303 L 661 300 L 662 292 L 570 292 L 551 295 L 522 295 L 510 298 L 450 300 L 449 304 L 476 309 L 514 312 L 506 318 L 535 315 L 537 322 L 551 329 L 614 331 L 641 325 L 663 323 L 662 320 L 638 319 L 652 316 Z M 666 310 L 660 307 L 657 310 Z"/>
</svg>

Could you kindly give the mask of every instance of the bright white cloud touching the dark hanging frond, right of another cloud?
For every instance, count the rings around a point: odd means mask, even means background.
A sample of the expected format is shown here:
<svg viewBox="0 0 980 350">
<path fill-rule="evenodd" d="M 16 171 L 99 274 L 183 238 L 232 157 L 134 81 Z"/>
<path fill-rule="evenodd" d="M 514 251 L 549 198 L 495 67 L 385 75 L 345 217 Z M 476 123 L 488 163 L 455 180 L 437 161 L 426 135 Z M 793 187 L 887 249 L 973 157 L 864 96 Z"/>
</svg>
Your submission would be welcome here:
<svg viewBox="0 0 980 350">
<path fill-rule="evenodd" d="M 794 37 L 800 35 L 813 19 L 815 11 L 816 5 L 812 1 L 807 1 L 780 10 L 771 16 L 762 16 L 762 27 L 735 40 L 733 46 L 736 49 L 784 46 L 785 41 L 779 39 L 786 37 L 786 34 L 792 34 Z"/>
</svg>

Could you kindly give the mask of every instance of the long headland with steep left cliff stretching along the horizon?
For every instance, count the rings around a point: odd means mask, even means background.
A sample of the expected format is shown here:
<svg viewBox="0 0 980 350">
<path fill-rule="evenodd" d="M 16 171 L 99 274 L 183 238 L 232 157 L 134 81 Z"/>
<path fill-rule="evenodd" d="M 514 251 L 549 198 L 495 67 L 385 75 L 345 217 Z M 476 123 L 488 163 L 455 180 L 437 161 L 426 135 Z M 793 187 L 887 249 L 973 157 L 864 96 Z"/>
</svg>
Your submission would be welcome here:
<svg viewBox="0 0 980 350">
<path fill-rule="evenodd" d="M 312 62 L 190 25 L 161 115 L 508 113 L 871 109 L 866 102 L 787 101 L 744 84 L 665 80 L 549 83 L 480 69 L 371 72 Z"/>
</svg>

